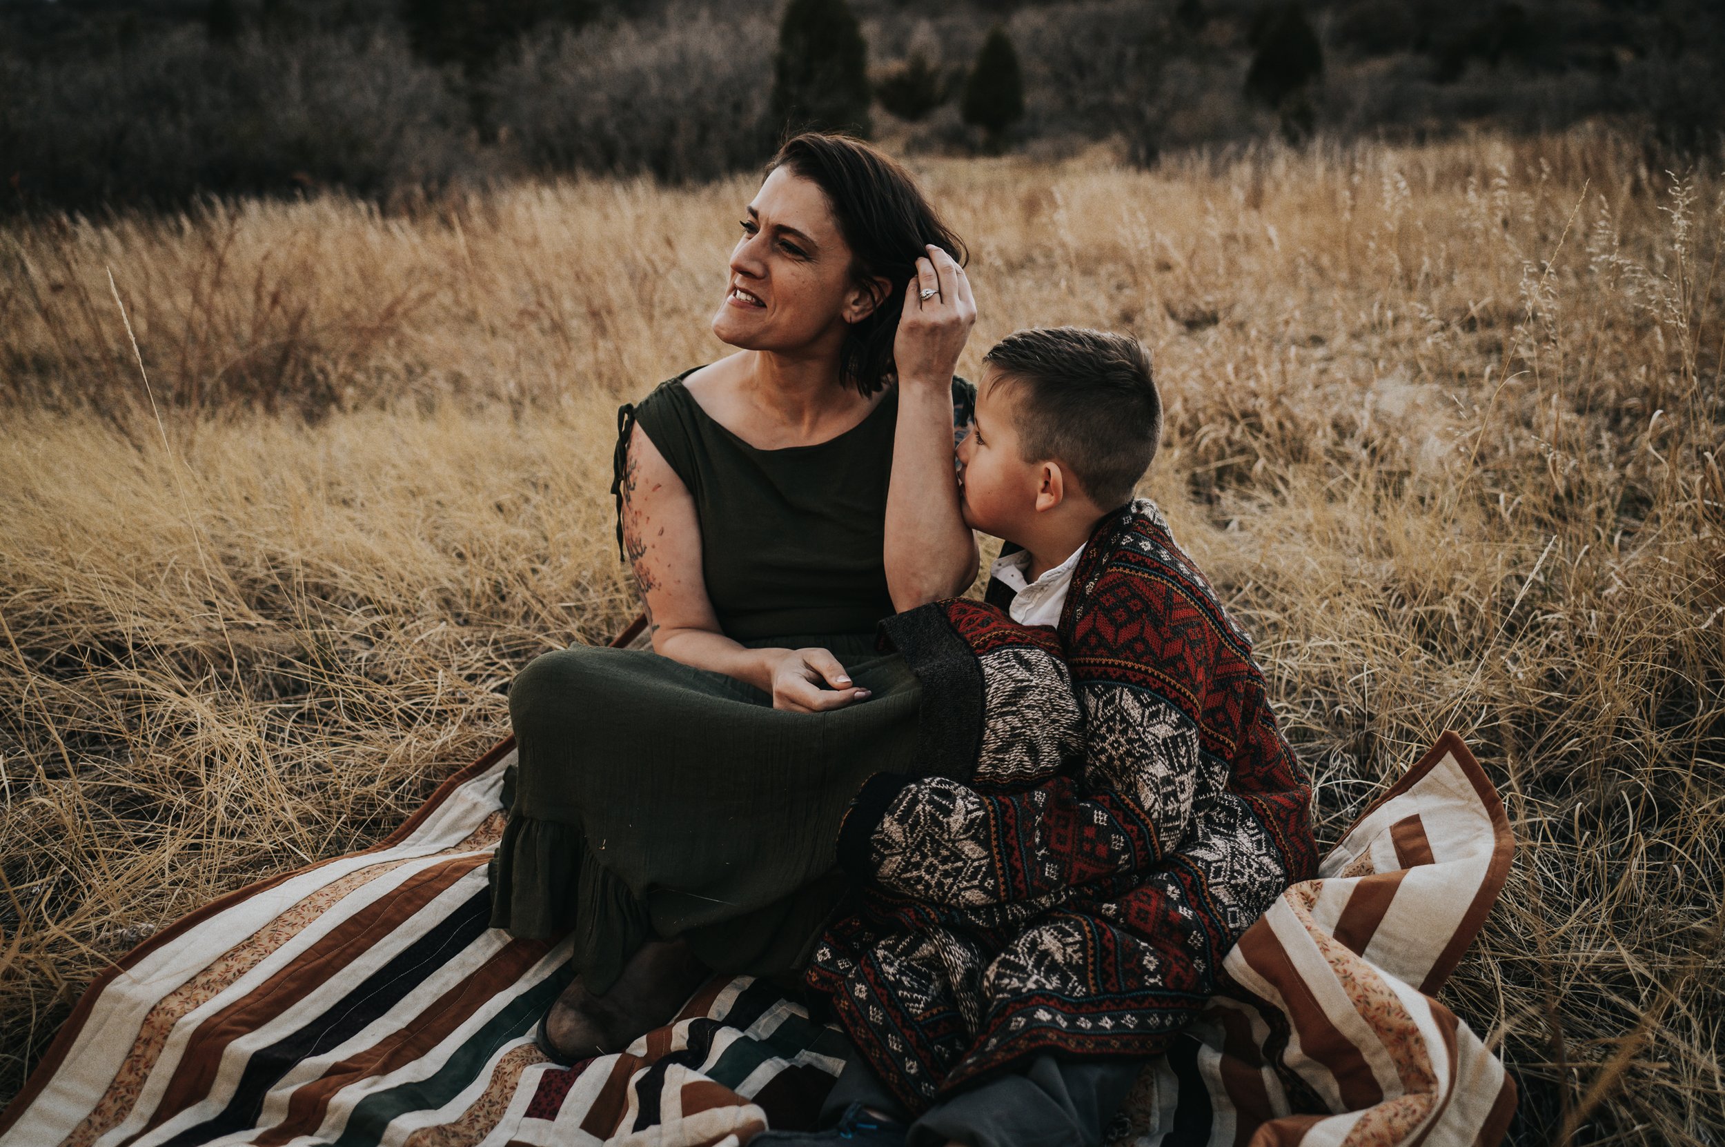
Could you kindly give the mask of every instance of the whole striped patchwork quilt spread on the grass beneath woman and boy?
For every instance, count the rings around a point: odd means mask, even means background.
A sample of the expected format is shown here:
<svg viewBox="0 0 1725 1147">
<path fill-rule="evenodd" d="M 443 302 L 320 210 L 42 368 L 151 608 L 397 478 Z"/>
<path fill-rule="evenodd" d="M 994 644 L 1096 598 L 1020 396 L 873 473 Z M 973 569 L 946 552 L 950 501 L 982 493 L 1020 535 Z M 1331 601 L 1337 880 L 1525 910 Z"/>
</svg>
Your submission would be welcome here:
<svg viewBox="0 0 1725 1147">
<path fill-rule="evenodd" d="M 626 1052 L 557 1068 L 531 1030 L 566 947 L 486 928 L 499 745 L 374 849 L 235 892 L 100 976 L 0 1147 L 742 1144 L 809 1126 L 837 1030 L 714 980 Z M 1513 843 L 1461 740 L 1439 745 L 1226 961 L 1145 1066 L 1116 1144 L 1490 1144 L 1515 1087 L 1432 992 Z"/>
</svg>

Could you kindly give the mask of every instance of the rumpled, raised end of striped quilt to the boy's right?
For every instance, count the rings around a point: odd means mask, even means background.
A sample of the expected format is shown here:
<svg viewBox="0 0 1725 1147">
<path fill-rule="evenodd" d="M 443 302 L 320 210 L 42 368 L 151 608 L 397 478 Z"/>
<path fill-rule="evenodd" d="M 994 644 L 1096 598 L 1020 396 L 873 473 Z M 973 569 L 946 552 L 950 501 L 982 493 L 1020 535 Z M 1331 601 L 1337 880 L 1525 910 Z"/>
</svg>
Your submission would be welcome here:
<svg viewBox="0 0 1725 1147">
<path fill-rule="evenodd" d="M 1138 1076 L 1121 1140 L 1451 1147 L 1504 1138 L 1516 1088 L 1432 999 L 1515 856 L 1497 792 L 1444 733 L 1245 930 L 1225 988 Z"/>
</svg>

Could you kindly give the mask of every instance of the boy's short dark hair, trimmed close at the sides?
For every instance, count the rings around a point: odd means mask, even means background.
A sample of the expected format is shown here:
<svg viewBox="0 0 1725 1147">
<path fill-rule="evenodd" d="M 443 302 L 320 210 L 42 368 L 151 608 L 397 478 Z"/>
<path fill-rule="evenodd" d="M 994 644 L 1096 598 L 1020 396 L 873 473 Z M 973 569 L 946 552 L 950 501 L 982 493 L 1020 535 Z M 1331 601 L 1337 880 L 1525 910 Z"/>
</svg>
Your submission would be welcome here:
<svg viewBox="0 0 1725 1147">
<path fill-rule="evenodd" d="M 1102 509 L 1132 500 L 1163 440 L 1163 397 L 1135 338 L 1083 326 L 1014 331 L 983 355 L 1016 393 L 1026 462 L 1059 462 Z"/>
</svg>

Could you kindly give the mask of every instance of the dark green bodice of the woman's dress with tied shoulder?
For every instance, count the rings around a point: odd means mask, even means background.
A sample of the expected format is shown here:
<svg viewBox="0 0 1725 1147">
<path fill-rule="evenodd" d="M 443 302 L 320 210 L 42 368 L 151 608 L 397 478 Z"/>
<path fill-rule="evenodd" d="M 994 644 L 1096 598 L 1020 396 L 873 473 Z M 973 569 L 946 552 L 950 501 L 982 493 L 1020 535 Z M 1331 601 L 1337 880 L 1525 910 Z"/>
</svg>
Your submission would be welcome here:
<svg viewBox="0 0 1725 1147">
<path fill-rule="evenodd" d="M 873 635 L 892 616 L 881 550 L 899 392 L 837 438 L 759 450 L 712 419 L 683 386 L 690 367 L 618 411 L 612 493 L 635 423 L 695 498 L 700 567 L 719 630 L 747 645 L 785 636 Z M 952 379 L 954 426 L 976 388 Z"/>
</svg>

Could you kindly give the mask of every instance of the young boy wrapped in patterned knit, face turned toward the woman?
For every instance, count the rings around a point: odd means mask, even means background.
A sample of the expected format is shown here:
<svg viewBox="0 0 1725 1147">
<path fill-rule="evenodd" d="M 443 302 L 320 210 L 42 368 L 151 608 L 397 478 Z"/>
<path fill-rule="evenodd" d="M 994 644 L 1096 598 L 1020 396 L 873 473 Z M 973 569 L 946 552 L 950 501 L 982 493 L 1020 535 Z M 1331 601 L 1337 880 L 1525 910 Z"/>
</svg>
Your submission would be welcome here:
<svg viewBox="0 0 1725 1147">
<path fill-rule="evenodd" d="M 1030 329 L 985 366 L 964 519 L 1009 545 L 987 604 L 881 626 L 923 683 L 925 768 L 871 778 L 845 819 L 861 909 L 807 983 L 854 1052 L 838 1126 L 780 1144 L 1099 1145 L 1233 942 L 1316 869 L 1251 645 L 1132 500 L 1161 436 L 1147 354 Z"/>
</svg>

